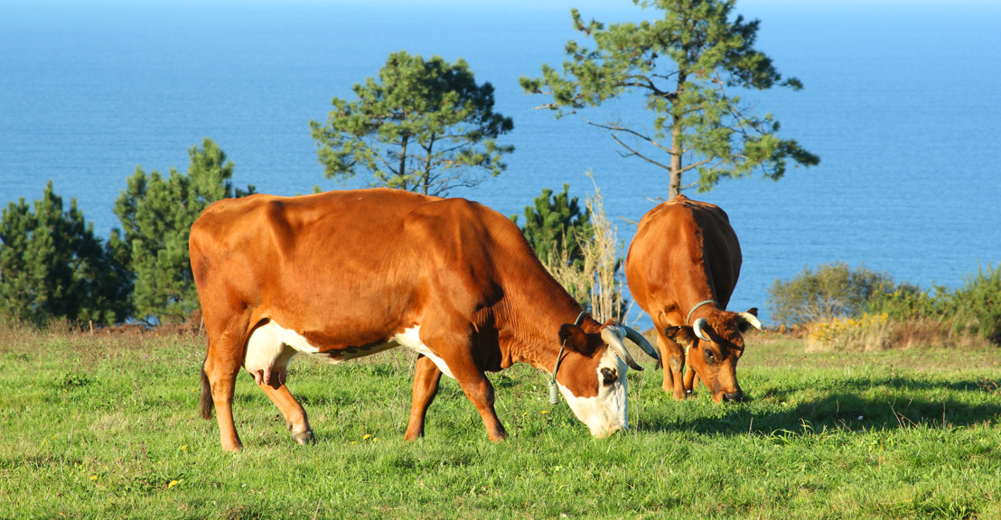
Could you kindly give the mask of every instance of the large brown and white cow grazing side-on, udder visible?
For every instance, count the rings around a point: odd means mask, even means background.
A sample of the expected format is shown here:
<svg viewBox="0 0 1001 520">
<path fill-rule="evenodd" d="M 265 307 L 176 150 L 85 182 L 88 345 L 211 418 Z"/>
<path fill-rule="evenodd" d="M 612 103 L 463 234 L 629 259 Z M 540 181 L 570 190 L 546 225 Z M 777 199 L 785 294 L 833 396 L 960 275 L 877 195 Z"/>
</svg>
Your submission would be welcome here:
<svg viewBox="0 0 1001 520">
<path fill-rule="evenodd" d="M 518 227 L 463 199 L 399 190 L 253 195 L 212 204 L 191 227 L 191 268 L 208 334 L 202 416 L 214 403 L 225 450 L 241 448 L 232 400 L 240 367 L 299 443 L 313 434 L 285 386 L 299 352 L 332 363 L 404 346 L 420 355 L 405 438 L 423 434 L 442 372 L 507 435 L 484 371 L 522 361 L 553 372 L 596 436 L 629 428 L 623 344 L 546 271 Z M 562 357 L 561 357 L 562 354 Z"/>
</svg>

